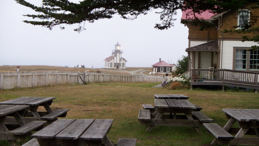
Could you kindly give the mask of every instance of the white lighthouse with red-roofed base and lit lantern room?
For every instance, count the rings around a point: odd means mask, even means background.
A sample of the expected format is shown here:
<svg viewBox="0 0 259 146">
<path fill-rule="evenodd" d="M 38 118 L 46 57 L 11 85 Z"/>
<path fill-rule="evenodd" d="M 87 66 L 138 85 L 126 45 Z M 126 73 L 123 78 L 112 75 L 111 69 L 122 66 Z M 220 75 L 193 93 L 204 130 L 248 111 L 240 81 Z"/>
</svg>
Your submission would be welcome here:
<svg viewBox="0 0 259 146">
<path fill-rule="evenodd" d="M 104 68 L 114 68 L 114 69 L 126 69 L 126 62 L 125 58 L 121 57 L 123 50 L 120 48 L 119 42 L 114 45 L 114 50 L 112 50 L 112 55 L 105 58 Z"/>
</svg>

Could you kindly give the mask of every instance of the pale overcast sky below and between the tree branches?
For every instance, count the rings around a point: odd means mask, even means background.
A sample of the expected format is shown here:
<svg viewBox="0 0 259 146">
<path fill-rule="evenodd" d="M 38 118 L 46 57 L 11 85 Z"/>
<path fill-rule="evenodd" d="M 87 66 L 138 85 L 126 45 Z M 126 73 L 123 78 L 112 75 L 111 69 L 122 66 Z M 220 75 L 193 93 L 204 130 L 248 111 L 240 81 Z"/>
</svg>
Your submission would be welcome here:
<svg viewBox="0 0 259 146">
<path fill-rule="evenodd" d="M 75 1 L 75 0 L 74 0 Z M 28 0 L 39 5 L 40 0 Z M 151 67 L 161 60 L 176 63 L 187 55 L 188 28 L 180 23 L 178 11 L 174 27 L 157 30 L 160 15 L 155 10 L 137 19 L 119 16 L 85 23 L 86 30 L 75 32 L 77 24 L 53 30 L 22 22 L 23 14 L 37 14 L 14 0 L 0 0 L 0 65 L 54 65 L 103 68 L 114 45 L 119 42 L 126 67 Z"/>
</svg>

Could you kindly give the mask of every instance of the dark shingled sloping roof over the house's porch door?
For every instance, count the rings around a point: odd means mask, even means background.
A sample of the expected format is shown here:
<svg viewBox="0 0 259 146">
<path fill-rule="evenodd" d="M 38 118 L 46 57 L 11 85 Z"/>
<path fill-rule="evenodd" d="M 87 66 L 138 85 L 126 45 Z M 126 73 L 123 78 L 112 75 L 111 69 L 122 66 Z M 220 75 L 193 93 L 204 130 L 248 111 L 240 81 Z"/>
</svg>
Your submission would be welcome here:
<svg viewBox="0 0 259 146">
<path fill-rule="evenodd" d="M 218 44 L 218 41 L 210 41 L 210 42 L 207 42 L 207 43 L 203 43 L 203 44 L 200 44 L 200 45 L 197 45 L 197 46 L 193 46 L 193 47 L 190 47 L 190 48 L 186 48 L 185 51 L 219 51 L 219 44 Z"/>
</svg>

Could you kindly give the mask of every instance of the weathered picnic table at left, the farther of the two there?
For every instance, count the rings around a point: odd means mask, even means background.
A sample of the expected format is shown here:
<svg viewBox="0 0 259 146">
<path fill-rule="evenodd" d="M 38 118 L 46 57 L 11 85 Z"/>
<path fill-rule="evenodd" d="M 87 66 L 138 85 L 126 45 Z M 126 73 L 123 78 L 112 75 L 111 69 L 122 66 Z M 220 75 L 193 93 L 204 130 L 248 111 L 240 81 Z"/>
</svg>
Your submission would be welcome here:
<svg viewBox="0 0 259 146">
<path fill-rule="evenodd" d="M 35 120 L 47 120 L 53 122 L 57 120 L 57 117 L 66 117 L 69 109 L 58 109 L 55 112 L 52 111 L 50 105 L 52 104 L 55 97 L 20 97 L 8 101 L 0 102 L 0 105 L 27 105 L 29 110 L 26 111 L 24 117 L 34 117 L 34 118 L 24 118 L 26 123 Z M 38 107 L 43 106 L 46 112 L 39 112 Z M 8 119 L 12 122 L 13 119 Z"/>
</svg>

